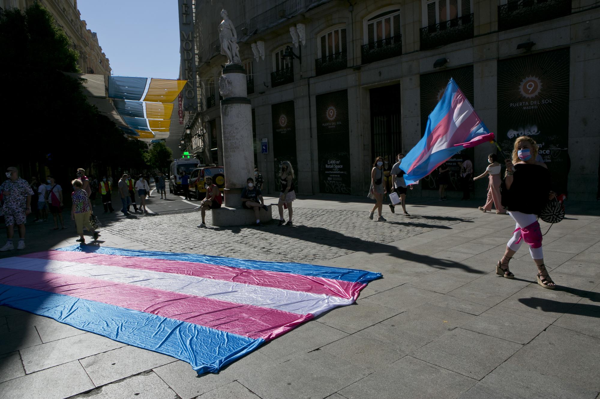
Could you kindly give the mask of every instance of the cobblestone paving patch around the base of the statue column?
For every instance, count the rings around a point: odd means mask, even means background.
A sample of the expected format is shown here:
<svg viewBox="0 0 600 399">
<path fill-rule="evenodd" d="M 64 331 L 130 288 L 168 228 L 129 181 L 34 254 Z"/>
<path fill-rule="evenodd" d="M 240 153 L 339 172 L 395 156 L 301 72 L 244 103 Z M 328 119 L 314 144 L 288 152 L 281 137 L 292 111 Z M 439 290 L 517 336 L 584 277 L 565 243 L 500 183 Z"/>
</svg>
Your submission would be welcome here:
<svg viewBox="0 0 600 399">
<path fill-rule="evenodd" d="M 287 213 L 287 212 L 286 212 Z M 287 214 L 286 214 L 287 216 Z M 203 253 L 263 261 L 310 263 L 355 251 L 386 252 L 385 244 L 465 220 L 448 216 L 389 217 L 388 222 L 368 219 L 366 211 L 295 208 L 295 226 L 277 226 L 277 220 L 255 227 L 197 228 L 199 212 L 125 219 L 104 230 L 148 244 L 156 250 Z M 401 220 L 401 221 L 397 221 Z M 391 247 L 387 249 L 389 253 Z"/>
</svg>

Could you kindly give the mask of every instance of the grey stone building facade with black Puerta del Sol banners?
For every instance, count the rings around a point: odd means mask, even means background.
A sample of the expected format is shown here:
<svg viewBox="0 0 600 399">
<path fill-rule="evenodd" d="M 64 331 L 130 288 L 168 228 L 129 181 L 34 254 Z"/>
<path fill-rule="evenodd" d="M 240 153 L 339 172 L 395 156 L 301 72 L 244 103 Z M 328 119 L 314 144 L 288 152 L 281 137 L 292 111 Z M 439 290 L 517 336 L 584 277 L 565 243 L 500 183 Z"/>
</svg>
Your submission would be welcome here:
<svg viewBox="0 0 600 399">
<path fill-rule="evenodd" d="M 53 1 L 53 0 L 47 0 Z M 186 123 L 205 163 L 221 164 L 217 26 L 236 26 L 268 191 L 281 161 L 299 194 L 366 195 L 376 156 L 408 152 L 454 78 L 504 153 L 538 142 L 556 191 L 598 198 L 598 0 L 229 0 L 194 9 L 199 111 Z M 293 56 L 290 58 L 290 49 Z M 493 144 L 464 154 L 475 173 Z M 208 161 L 209 160 L 209 161 Z M 449 160 L 458 190 L 458 158 Z M 208 162 L 207 162 L 208 161 Z M 485 179 L 474 183 L 478 197 Z M 411 195 L 436 196 L 435 173 Z M 458 195 L 458 193 L 457 193 Z"/>
</svg>

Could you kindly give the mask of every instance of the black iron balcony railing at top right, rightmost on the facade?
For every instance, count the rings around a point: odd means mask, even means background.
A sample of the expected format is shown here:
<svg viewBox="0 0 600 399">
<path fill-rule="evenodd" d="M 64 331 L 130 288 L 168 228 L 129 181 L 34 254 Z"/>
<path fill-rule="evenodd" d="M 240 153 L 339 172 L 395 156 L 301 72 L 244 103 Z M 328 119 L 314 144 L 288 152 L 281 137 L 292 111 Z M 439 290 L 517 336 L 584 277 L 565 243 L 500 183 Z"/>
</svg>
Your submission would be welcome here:
<svg viewBox="0 0 600 399">
<path fill-rule="evenodd" d="M 571 14 L 571 0 L 514 0 L 498 6 L 498 29 L 519 28 Z"/>
</svg>

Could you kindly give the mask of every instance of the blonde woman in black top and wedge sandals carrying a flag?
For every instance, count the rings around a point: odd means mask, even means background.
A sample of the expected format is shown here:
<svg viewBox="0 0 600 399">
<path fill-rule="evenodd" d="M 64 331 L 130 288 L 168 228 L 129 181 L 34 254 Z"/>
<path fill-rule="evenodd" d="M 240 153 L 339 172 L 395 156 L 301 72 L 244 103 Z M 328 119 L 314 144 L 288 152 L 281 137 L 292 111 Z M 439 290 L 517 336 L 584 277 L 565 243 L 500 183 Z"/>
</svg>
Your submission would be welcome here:
<svg viewBox="0 0 600 399">
<path fill-rule="evenodd" d="M 536 161 L 538 145 L 535 140 L 521 136 L 515 140 L 512 159 L 505 159 L 506 190 L 502 190 L 502 204 L 517 223 L 516 230 L 506 245 L 502 259 L 496 264 L 496 274 L 514 279 L 508 269 L 508 262 L 521 246 L 522 241 L 529 245 L 529 253 L 538 268 L 538 284 L 544 288 L 554 289 L 556 284 L 550 278 L 544 264 L 542 252 L 542 232 L 539 228 L 538 215 L 548 200 L 555 197 L 551 191 L 551 179 L 548 167 L 544 162 Z"/>
</svg>

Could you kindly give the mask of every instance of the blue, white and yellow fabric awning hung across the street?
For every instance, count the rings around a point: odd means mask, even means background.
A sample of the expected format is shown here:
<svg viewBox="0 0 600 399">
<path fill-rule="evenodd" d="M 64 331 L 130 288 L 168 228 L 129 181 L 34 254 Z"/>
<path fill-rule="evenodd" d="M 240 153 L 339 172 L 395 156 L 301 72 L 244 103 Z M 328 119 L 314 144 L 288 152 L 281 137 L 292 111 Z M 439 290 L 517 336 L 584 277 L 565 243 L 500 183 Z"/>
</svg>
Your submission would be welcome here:
<svg viewBox="0 0 600 399">
<path fill-rule="evenodd" d="M 90 104 L 131 138 L 156 141 L 169 137 L 173 101 L 185 80 L 74 74 L 83 79 Z"/>
</svg>

